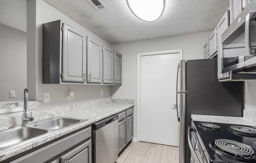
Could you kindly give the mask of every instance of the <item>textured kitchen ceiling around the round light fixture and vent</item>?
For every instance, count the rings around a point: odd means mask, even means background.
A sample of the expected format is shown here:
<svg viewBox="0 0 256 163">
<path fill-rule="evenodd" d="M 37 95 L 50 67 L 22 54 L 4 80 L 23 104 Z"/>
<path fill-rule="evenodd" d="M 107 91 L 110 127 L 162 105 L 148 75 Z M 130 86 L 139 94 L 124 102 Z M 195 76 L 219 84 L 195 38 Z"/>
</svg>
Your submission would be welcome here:
<svg viewBox="0 0 256 163">
<path fill-rule="evenodd" d="M 212 30 L 229 6 L 229 0 L 166 0 L 163 16 L 144 22 L 126 0 L 102 0 L 101 10 L 88 0 L 44 1 L 111 44 Z"/>
</svg>

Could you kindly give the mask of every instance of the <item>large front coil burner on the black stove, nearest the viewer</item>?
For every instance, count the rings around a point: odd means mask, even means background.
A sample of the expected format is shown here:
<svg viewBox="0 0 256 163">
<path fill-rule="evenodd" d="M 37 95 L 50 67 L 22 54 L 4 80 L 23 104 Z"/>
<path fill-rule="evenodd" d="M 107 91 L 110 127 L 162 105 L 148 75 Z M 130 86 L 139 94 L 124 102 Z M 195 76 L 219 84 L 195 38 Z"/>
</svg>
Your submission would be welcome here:
<svg viewBox="0 0 256 163">
<path fill-rule="evenodd" d="M 232 159 L 242 161 L 255 161 L 255 150 L 249 145 L 228 139 L 218 139 L 213 141 L 210 146 L 216 152 Z"/>
</svg>

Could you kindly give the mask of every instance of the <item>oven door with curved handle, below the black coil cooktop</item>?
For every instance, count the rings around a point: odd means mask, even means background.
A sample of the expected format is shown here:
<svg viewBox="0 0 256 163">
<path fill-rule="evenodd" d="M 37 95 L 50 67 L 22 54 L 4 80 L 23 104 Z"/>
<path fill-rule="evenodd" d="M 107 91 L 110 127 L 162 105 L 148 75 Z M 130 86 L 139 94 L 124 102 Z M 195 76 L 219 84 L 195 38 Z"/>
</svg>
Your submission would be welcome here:
<svg viewBox="0 0 256 163">
<path fill-rule="evenodd" d="M 188 127 L 188 145 L 191 151 L 190 163 L 207 163 L 196 132 L 194 132 L 192 127 Z"/>
</svg>

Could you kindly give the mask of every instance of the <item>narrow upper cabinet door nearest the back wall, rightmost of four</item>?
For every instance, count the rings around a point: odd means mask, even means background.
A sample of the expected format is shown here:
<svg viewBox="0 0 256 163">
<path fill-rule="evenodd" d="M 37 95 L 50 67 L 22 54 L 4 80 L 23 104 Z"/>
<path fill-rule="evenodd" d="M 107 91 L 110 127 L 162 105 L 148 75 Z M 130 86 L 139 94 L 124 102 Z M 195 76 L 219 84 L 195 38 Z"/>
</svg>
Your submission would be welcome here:
<svg viewBox="0 0 256 163">
<path fill-rule="evenodd" d="M 122 54 L 114 51 L 114 83 L 122 84 Z"/>
</svg>

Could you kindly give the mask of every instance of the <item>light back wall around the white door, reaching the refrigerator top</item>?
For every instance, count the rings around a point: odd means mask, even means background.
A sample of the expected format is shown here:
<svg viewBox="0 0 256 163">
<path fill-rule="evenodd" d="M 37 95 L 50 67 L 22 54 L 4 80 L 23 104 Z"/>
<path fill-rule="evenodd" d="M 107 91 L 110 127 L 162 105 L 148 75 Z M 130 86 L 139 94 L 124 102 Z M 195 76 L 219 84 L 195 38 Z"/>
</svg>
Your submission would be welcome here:
<svg viewBox="0 0 256 163">
<path fill-rule="evenodd" d="M 203 58 L 203 45 L 211 33 L 212 31 L 206 31 L 112 45 L 112 49 L 123 55 L 122 85 L 114 86 L 112 88 L 112 98 L 135 99 L 135 138 L 137 138 L 137 54 L 152 51 L 183 49 L 183 59 L 201 59 Z"/>
</svg>

